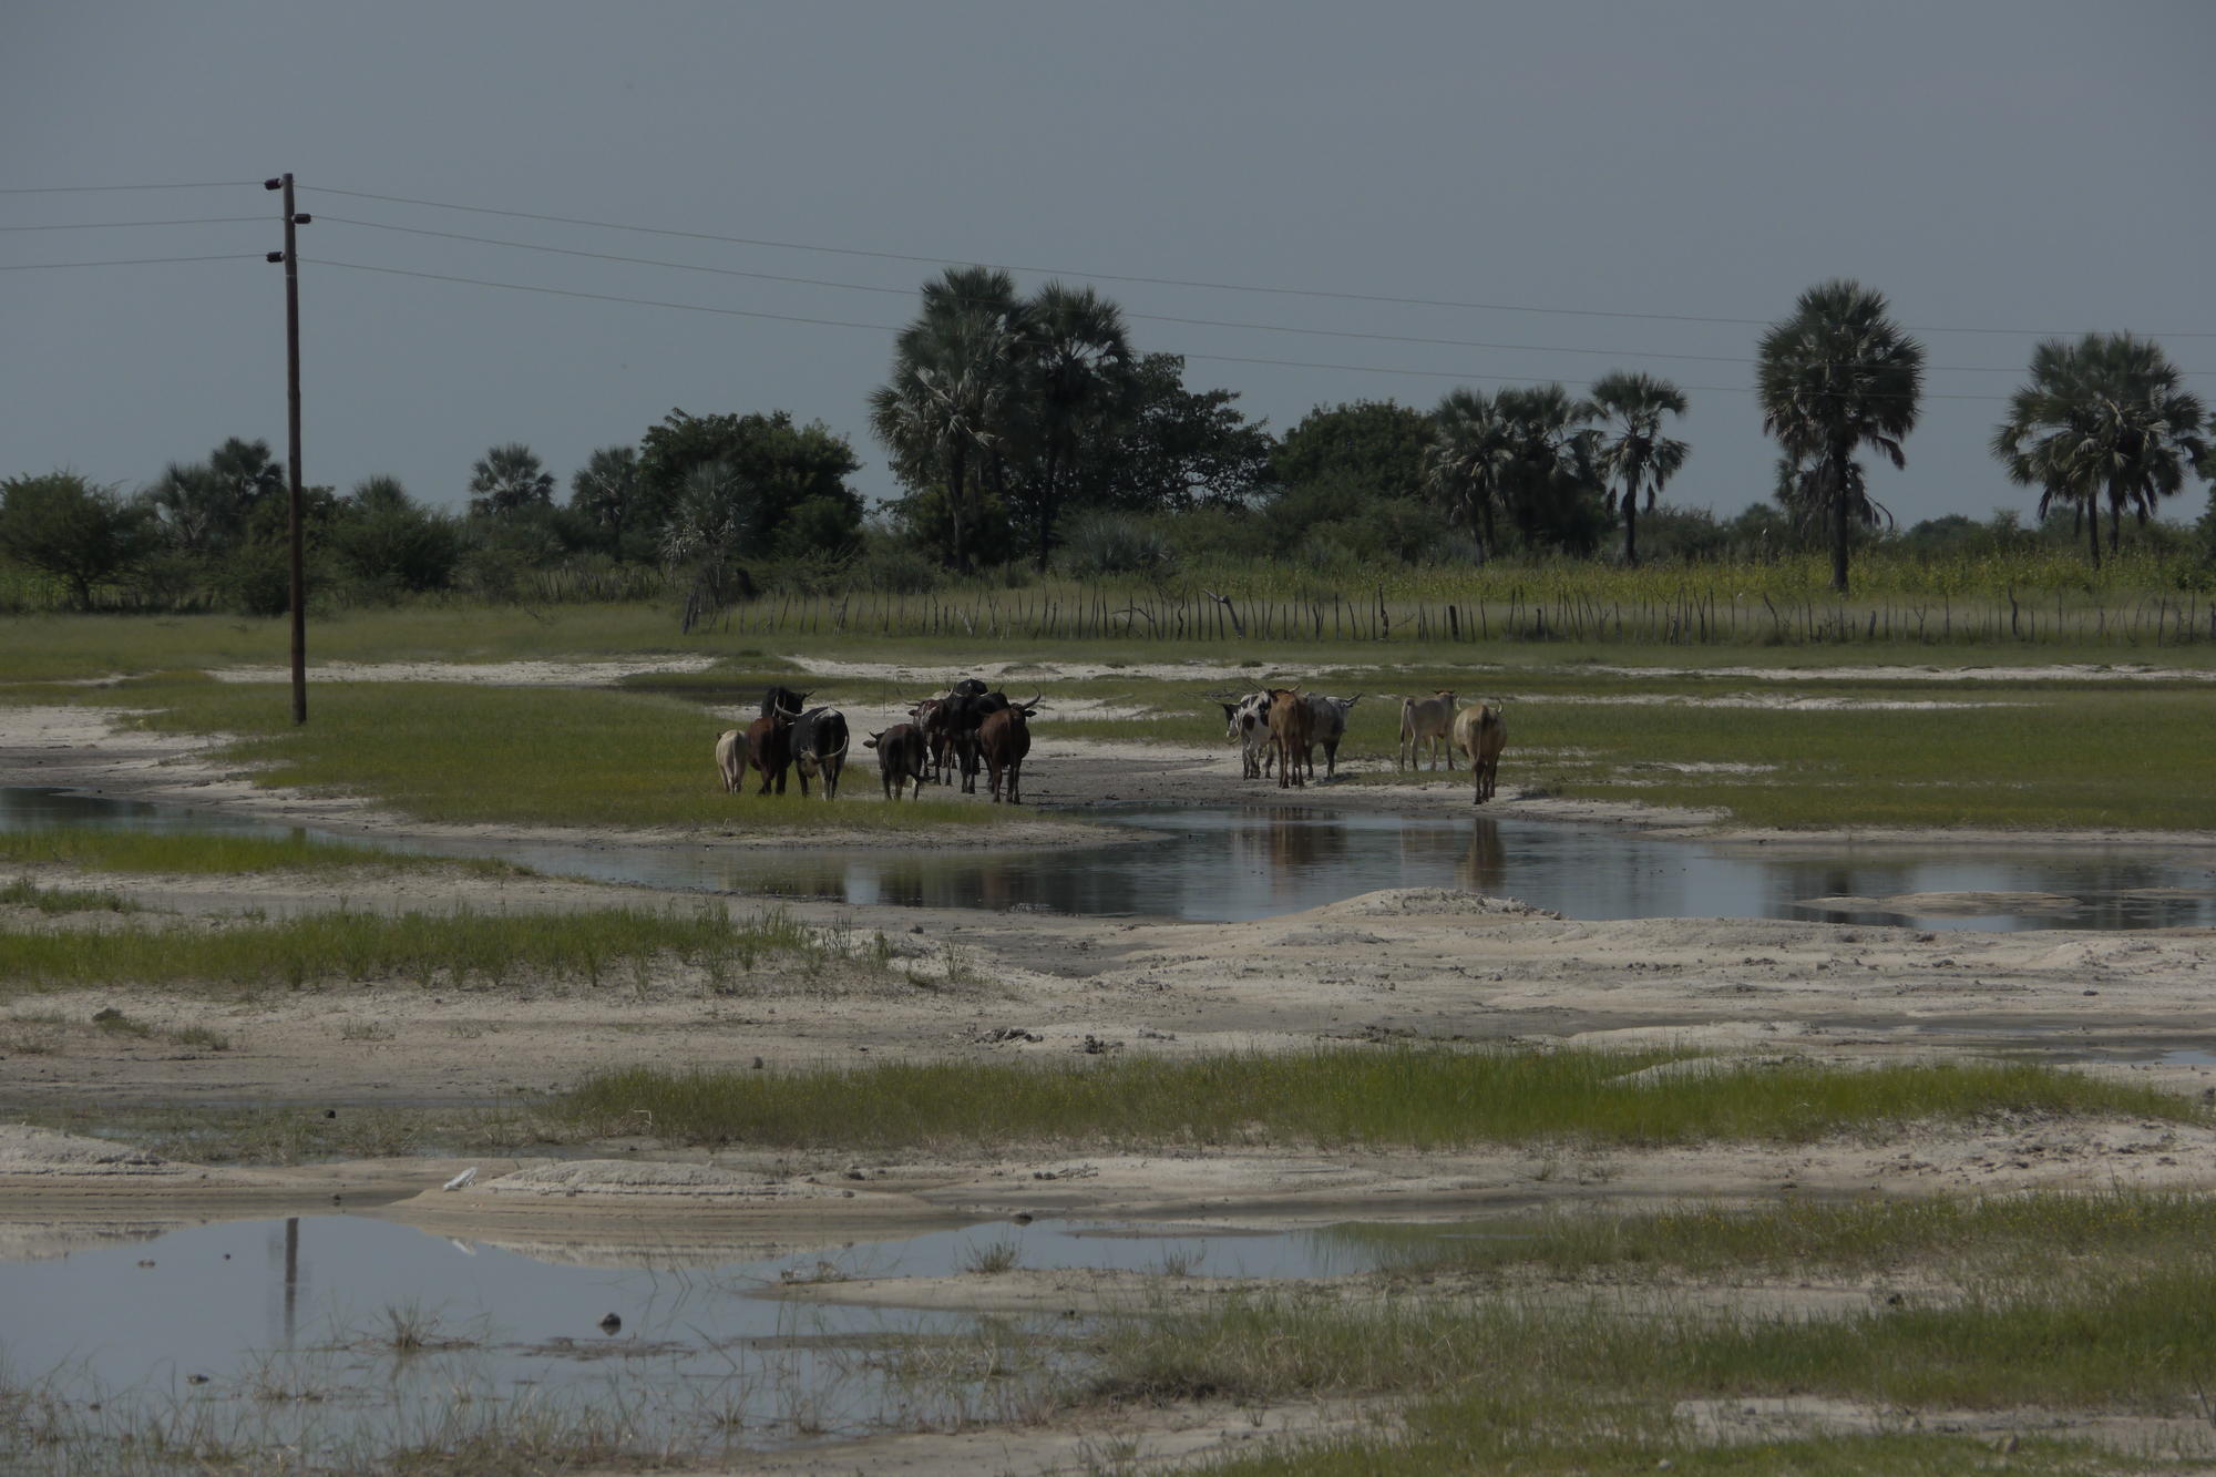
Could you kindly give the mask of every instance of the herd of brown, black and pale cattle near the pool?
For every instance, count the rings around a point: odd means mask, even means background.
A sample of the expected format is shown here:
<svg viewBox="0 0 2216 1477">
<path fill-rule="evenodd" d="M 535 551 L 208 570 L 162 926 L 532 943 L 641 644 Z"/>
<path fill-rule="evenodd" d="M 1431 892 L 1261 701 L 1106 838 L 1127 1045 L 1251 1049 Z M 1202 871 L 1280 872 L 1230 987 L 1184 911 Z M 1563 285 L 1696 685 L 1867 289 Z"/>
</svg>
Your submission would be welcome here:
<svg viewBox="0 0 2216 1477">
<path fill-rule="evenodd" d="M 840 772 L 847 767 L 847 716 L 838 707 L 809 707 L 811 692 L 771 687 L 762 694 L 762 716 L 747 727 L 727 730 L 716 738 L 716 772 L 727 794 L 738 794 L 747 772 L 760 774 L 756 794 L 784 794 L 789 770 L 800 772 L 800 794 L 820 778 L 827 801 L 838 798 Z M 1210 696 L 1223 710 L 1225 738 L 1239 747 L 1243 778 L 1270 778 L 1279 790 L 1316 778 L 1316 750 L 1323 750 L 1323 776 L 1338 776 L 1338 741 L 1347 732 L 1347 712 L 1363 694 L 1334 699 L 1299 687 L 1265 687 L 1239 699 Z M 1042 696 L 1010 703 L 1006 692 L 988 692 L 975 676 L 955 683 L 946 696 L 922 699 L 909 710 L 906 723 L 869 734 L 862 747 L 878 752 L 878 778 L 884 798 L 902 794 L 920 798 L 924 781 L 962 783 L 962 794 L 977 794 L 977 774 L 986 774 L 993 801 L 1006 794 L 1010 805 L 1024 803 L 1024 758 L 1030 754 L 1030 719 Z M 1456 707 L 1451 692 L 1425 699 L 1401 699 L 1398 767 L 1420 767 L 1429 756 L 1438 767 L 1445 752 L 1447 770 L 1454 756 L 1469 758 L 1474 803 L 1494 798 L 1500 774 L 1500 752 L 1507 747 L 1507 723 L 1498 703 Z"/>
</svg>

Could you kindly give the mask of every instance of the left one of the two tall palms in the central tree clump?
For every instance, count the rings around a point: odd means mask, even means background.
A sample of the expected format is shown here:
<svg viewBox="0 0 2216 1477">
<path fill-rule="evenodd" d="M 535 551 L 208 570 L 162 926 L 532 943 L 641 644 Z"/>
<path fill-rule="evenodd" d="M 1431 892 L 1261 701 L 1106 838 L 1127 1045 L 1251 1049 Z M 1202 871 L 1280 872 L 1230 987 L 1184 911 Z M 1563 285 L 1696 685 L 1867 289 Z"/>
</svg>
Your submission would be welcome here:
<svg viewBox="0 0 2216 1477">
<path fill-rule="evenodd" d="M 951 266 L 924 284 L 924 306 L 893 346 L 893 375 L 869 397 L 869 428 L 913 488 L 946 492 L 948 552 L 971 568 L 964 526 L 977 472 L 997 468 L 1017 401 L 1024 308 L 1015 279 Z"/>
</svg>

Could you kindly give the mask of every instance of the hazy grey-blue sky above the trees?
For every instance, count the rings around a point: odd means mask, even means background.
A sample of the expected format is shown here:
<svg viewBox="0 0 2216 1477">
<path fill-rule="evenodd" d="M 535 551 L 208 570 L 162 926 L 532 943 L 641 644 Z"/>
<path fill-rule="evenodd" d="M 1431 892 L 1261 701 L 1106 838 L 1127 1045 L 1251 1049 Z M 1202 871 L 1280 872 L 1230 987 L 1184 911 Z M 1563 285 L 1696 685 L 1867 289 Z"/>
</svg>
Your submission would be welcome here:
<svg viewBox="0 0 2216 1477">
<path fill-rule="evenodd" d="M 290 171 L 339 490 L 459 506 L 523 441 L 567 492 L 683 408 L 820 419 L 897 495 L 866 397 L 988 262 L 1276 432 L 1666 377 L 1664 499 L 1726 515 L 1773 486 L 1764 324 L 1853 277 L 1930 366 L 1870 492 L 2028 512 L 1988 439 L 2043 335 L 2156 337 L 2216 401 L 2212 55 L 2205 0 L 11 0 L 0 477 L 284 455 Z"/>
</svg>

